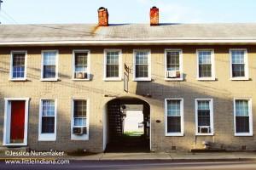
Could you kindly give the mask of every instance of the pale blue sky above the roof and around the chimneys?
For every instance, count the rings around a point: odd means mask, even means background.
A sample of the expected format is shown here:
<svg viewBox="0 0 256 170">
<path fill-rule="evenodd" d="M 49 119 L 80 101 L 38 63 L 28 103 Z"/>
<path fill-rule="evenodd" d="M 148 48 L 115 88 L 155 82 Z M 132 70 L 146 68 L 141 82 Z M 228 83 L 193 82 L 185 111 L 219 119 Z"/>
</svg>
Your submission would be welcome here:
<svg viewBox="0 0 256 170">
<path fill-rule="evenodd" d="M 96 23 L 108 8 L 110 23 L 148 23 L 149 8 L 160 22 L 256 22 L 255 0 L 3 0 L 2 24 Z"/>
</svg>

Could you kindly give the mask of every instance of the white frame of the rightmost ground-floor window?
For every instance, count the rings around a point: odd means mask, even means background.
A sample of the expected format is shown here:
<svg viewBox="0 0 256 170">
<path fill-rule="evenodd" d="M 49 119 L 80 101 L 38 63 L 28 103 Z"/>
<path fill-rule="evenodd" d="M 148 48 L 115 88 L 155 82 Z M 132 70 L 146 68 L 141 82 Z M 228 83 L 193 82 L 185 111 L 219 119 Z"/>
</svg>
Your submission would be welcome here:
<svg viewBox="0 0 256 170">
<path fill-rule="evenodd" d="M 237 99 L 244 99 L 248 101 L 248 115 L 249 115 L 249 133 L 236 133 L 236 100 Z M 245 99 L 245 98 L 235 98 L 233 99 L 233 115 L 234 115 L 234 135 L 235 136 L 253 136 L 253 101 L 252 99 Z"/>
</svg>

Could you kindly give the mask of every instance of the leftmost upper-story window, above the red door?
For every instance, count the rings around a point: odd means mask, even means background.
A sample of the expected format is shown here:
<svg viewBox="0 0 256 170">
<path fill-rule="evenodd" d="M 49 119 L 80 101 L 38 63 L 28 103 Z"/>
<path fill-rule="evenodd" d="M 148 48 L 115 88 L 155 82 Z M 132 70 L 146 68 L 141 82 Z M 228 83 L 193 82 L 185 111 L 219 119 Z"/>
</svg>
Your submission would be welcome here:
<svg viewBox="0 0 256 170">
<path fill-rule="evenodd" d="M 26 51 L 11 53 L 11 80 L 26 80 Z"/>
</svg>

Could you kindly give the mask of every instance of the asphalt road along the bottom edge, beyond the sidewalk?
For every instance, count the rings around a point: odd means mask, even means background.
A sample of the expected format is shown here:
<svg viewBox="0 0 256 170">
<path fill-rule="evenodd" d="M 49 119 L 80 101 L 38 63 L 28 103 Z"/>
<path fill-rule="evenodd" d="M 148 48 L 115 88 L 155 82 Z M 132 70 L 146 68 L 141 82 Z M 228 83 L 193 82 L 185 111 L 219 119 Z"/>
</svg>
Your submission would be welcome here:
<svg viewBox="0 0 256 170">
<path fill-rule="evenodd" d="M 6 165 L 0 161 L 0 169 L 145 169 L 145 170 L 256 170 L 256 161 L 212 161 L 212 162 L 172 162 L 172 161 L 70 161 L 68 165 Z"/>
</svg>

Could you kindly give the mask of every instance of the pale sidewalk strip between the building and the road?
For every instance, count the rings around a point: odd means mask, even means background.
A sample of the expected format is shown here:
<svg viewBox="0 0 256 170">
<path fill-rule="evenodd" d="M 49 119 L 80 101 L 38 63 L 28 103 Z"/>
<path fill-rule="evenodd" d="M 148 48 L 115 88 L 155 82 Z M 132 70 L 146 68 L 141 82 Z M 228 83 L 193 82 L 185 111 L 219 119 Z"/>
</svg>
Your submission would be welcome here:
<svg viewBox="0 0 256 170">
<path fill-rule="evenodd" d="M 70 160 L 84 161 L 256 161 L 256 152 L 218 152 L 218 153 L 101 153 L 92 156 L 67 156 Z"/>
</svg>

